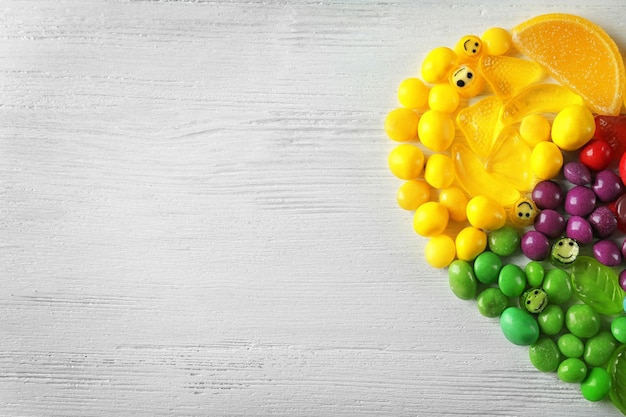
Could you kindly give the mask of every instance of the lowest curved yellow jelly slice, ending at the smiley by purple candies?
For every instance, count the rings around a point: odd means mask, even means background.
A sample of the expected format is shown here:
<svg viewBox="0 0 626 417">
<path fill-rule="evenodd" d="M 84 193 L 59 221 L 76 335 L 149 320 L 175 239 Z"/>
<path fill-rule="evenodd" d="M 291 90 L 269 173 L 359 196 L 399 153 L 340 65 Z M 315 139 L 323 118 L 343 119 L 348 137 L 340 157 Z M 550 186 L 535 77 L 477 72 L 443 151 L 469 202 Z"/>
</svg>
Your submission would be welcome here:
<svg viewBox="0 0 626 417">
<path fill-rule="evenodd" d="M 468 147 L 454 144 L 451 153 L 456 179 L 470 196 L 484 195 L 505 207 L 520 198 L 520 192 L 515 187 L 497 180 L 487 172 L 480 159 Z"/>
</svg>

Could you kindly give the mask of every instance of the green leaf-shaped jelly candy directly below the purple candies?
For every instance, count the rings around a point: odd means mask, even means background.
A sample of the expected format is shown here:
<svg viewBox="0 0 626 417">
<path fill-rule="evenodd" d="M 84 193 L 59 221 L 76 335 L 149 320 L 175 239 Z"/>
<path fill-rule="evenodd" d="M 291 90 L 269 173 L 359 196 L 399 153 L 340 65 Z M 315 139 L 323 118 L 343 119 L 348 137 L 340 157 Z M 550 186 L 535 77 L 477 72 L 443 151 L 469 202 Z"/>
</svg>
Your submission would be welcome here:
<svg viewBox="0 0 626 417">
<path fill-rule="evenodd" d="M 624 290 L 617 273 L 589 256 L 579 256 L 572 267 L 574 293 L 601 314 L 619 314 L 623 310 Z"/>
</svg>

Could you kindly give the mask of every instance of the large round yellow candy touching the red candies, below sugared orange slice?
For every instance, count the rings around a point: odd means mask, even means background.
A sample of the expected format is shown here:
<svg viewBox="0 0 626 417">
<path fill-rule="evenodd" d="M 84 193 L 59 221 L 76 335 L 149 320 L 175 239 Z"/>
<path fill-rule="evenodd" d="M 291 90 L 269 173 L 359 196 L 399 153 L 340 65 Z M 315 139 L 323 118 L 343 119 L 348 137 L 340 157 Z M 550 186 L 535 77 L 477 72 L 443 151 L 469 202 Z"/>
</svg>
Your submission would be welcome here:
<svg viewBox="0 0 626 417">
<path fill-rule="evenodd" d="M 595 132 L 593 114 L 587 107 L 577 104 L 565 107 L 552 122 L 552 142 L 564 151 L 581 148 Z"/>
</svg>

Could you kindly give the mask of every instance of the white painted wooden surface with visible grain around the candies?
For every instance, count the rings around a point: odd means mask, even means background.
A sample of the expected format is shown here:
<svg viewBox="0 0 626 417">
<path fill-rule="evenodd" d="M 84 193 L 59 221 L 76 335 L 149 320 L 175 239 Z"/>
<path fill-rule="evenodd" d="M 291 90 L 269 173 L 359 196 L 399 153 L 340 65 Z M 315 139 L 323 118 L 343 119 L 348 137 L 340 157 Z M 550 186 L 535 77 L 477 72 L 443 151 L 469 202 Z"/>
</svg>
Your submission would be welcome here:
<svg viewBox="0 0 626 417">
<path fill-rule="evenodd" d="M 621 0 L 0 1 L 0 415 L 618 416 L 396 206 L 400 81 Z"/>
</svg>

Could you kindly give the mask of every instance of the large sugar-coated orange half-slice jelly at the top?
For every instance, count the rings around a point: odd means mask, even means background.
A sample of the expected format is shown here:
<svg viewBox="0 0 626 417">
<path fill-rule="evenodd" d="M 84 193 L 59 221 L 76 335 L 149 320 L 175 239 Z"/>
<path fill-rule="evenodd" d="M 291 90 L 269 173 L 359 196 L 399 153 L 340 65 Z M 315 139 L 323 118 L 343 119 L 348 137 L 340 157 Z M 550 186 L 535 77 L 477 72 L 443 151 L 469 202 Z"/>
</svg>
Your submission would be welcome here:
<svg viewBox="0 0 626 417">
<path fill-rule="evenodd" d="M 598 25 L 575 15 L 545 14 L 514 27 L 512 42 L 581 95 L 594 112 L 619 114 L 624 63 L 615 42 Z"/>
</svg>

